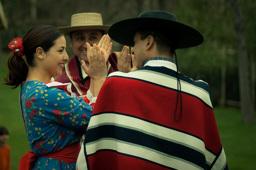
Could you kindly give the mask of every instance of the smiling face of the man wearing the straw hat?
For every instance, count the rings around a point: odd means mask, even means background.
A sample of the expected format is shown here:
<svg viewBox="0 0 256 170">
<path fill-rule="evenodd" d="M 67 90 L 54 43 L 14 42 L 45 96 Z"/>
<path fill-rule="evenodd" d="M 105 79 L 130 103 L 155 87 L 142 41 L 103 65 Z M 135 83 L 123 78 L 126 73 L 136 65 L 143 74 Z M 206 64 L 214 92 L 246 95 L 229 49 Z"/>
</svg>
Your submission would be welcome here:
<svg viewBox="0 0 256 170">
<path fill-rule="evenodd" d="M 86 42 L 91 46 L 94 43 L 98 44 L 102 36 L 103 34 L 100 30 L 74 31 L 71 35 L 70 46 L 78 58 L 88 62 Z"/>
</svg>

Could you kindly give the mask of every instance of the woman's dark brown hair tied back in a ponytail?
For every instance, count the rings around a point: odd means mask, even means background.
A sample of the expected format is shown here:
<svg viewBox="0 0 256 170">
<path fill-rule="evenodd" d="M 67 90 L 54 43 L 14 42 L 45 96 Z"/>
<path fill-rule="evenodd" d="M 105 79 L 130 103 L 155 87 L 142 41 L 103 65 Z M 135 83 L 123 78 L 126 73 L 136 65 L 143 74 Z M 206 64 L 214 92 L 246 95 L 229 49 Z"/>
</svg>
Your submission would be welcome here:
<svg viewBox="0 0 256 170">
<path fill-rule="evenodd" d="M 48 25 L 37 25 L 31 28 L 23 36 L 23 49 L 26 57 L 26 62 L 21 56 L 16 55 L 13 51 L 8 59 L 9 72 L 5 78 L 6 85 L 17 88 L 28 75 L 28 66 L 35 66 L 34 53 L 38 47 L 42 47 L 45 52 L 55 44 L 55 40 L 63 36 L 57 28 Z"/>
</svg>

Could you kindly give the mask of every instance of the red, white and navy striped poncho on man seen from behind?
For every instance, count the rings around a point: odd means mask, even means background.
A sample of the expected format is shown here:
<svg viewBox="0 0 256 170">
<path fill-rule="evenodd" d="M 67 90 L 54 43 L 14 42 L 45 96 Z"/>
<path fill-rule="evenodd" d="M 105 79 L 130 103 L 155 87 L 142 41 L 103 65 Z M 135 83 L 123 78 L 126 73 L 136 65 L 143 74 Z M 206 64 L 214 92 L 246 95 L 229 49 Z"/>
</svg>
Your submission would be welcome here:
<svg viewBox="0 0 256 170">
<path fill-rule="evenodd" d="M 111 73 L 96 101 L 77 169 L 228 169 L 207 83 L 179 74 L 182 117 L 174 120 L 176 74 L 175 64 L 163 60 Z"/>
</svg>

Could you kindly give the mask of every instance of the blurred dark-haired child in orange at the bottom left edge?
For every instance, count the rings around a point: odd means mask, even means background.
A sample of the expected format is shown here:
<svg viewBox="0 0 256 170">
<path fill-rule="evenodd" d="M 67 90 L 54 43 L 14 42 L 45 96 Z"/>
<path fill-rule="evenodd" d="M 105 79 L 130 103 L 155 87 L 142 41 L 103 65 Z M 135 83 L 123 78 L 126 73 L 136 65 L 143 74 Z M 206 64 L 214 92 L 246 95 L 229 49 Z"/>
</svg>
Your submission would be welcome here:
<svg viewBox="0 0 256 170">
<path fill-rule="evenodd" d="M 0 127 L 0 170 L 10 170 L 10 146 L 6 143 L 9 139 L 8 130 Z"/>
</svg>

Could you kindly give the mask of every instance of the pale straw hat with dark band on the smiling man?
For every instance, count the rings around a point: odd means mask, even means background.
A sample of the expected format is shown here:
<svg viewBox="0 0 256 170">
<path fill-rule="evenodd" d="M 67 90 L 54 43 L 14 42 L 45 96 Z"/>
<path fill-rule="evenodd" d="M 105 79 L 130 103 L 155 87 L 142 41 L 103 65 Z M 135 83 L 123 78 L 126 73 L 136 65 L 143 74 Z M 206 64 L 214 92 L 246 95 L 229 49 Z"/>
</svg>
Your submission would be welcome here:
<svg viewBox="0 0 256 170">
<path fill-rule="evenodd" d="M 71 16 L 71 26 L 59 27 L 58 29 L 65 35 L 78 30 L 103 30 L 107 34 L 110 25 L 103 25 L 101 14 L 86 12 L 73 14 Z"/>
</svg>

